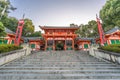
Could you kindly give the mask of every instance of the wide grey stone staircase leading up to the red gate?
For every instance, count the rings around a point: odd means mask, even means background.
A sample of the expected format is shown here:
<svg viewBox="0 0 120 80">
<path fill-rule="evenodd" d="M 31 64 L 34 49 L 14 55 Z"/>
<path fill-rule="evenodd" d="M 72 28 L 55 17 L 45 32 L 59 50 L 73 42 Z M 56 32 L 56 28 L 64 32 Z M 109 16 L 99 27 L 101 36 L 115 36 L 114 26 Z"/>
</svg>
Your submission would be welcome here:
<svg viewBox="0 0 120 80">
<path fill-rule="evenodd" d="M 84 51 L 45 51 L 0 66 L 0 80 L 120 80 L 120 66 Z"/>
</svg>

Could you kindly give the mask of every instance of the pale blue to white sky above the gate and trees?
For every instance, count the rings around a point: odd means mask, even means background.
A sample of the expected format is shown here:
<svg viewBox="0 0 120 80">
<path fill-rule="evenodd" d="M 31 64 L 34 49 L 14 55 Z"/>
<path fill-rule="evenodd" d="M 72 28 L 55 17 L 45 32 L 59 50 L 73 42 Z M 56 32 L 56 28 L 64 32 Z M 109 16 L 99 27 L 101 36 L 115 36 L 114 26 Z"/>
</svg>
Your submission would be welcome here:
<svg viewBox="0 0 120 80">
<path fill-rule="evenodd" d="M 9 16 L 21 19 L 23 14 L 35 25 L 35 31 L 40 26 L 69 26 L 71 23 L 87 24 L 96 20 L 100 9 L 106 0 L 10 0 L 17 10 Z"/>
</svg>

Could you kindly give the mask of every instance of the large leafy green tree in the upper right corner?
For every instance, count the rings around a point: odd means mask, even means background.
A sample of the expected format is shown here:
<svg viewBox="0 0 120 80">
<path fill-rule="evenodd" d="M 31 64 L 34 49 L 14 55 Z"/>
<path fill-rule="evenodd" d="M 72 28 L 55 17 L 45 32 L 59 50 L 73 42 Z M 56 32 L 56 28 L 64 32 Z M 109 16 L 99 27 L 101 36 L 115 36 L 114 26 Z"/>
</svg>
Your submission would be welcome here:
<svg viewBox="0 0 120 80">
<path fill-rule="evenodd" d="M 100 18 L 105 31 L 115 26 L 120 27 L 120 0 L 108 0 L 100 10 Z"/>
</svg>

